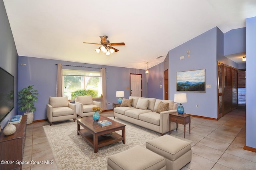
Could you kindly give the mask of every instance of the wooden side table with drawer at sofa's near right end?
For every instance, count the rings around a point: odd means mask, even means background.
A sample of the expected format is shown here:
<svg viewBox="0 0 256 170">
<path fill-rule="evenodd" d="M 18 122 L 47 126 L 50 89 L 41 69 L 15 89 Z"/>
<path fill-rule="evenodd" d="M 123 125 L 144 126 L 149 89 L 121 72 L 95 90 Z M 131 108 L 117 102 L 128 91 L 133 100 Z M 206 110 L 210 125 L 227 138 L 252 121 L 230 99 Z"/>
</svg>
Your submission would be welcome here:
<svg viewBox="0 0 256 170">
<path fill-rule="evenodd" d="M 169 113 L 169 135 L 171 134 L 171 121 L 176 122 L 177 128 L 176 131 L 178 131 L 178 123 L 184 125 L 184 138 L 185 138 L 185 132 L 186 132 L 186 124 L 189 123 L 189 134 L 190 134 L 190 115 L 183 113 L 179 114 L 178 112 Z"/>
</svg>

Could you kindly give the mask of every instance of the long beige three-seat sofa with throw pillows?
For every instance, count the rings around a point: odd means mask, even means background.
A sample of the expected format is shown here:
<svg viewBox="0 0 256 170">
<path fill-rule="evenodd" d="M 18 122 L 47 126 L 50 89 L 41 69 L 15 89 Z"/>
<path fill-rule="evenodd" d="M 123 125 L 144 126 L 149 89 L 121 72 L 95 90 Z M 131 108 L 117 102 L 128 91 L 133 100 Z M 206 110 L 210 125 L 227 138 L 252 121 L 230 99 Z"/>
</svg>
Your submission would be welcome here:
<svg viewBox="0 0 256 170">
<path fill-rule="evenodd" d="M 177 104 L 172 100 L 130 96 L 129 99 L 123 99 L 120 107 L 114 108 L 114 118 L 118 117 L 163 135 L 169 131 L 169 113 L 176 111 Z M 176 123 L 171 122 L 171 130 L 174 129 Z"/>
</svg>

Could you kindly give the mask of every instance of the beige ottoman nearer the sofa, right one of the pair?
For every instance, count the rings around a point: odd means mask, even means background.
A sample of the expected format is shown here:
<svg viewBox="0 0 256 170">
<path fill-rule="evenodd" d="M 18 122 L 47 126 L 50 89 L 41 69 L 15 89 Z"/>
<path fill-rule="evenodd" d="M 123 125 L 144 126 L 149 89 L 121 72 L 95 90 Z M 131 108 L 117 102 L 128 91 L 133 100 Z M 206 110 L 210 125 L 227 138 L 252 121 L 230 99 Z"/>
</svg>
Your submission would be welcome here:
<svg viewBox="0 0 256 170">
<path fill-rule="evenodd" d="M 167 170 L 179 170 L 191 161 L 191 144 L 170 135 L 146 142 L 146 148 L 166 158 Z"/>
</svg>

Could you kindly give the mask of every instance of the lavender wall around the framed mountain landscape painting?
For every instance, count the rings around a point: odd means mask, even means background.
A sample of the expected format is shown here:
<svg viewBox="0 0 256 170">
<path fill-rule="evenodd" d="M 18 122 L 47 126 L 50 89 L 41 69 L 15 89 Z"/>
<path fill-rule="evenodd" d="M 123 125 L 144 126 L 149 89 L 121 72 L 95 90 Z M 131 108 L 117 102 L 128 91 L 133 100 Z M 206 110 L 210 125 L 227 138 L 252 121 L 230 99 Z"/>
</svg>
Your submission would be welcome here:
<svg viewBox="0 0 256 170">
<path fill-rule="evenodd" d="M 176 72 L 206 69 L 205 93 L 187 92 L 187 103 L 182 104 L 185 112 L 193 115 L 217 118 L 217 27 L 191 39 L 169 51 L 169 99 L 174 100 Z M 190 57 L 187 57 L 190 50 Z M 180 60 L 184 56 L 184 60 Z M 199 105 L 196 108 L 196 105 Z"/>
</svg>

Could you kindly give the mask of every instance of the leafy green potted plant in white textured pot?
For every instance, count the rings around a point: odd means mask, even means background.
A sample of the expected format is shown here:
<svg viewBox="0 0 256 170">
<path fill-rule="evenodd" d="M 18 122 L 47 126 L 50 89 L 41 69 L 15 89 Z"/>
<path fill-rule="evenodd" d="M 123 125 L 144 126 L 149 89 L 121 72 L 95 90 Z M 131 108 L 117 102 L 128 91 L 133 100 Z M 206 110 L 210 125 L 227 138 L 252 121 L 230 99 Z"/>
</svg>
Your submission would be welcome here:
<svg viewBox="0 0 256 170">
<path fill-rule="evenodd" d="M 27 124 L 33 122 L 34 119 L 34 111 L 36 111 L 36 107 L 34 106 L 34 102 L 37 102 L 38 91 L 33 90 L 33 86 L 28 86 L 27 88 L 23 88 L 18 92 L 18 105 L 20 111 L 26 111 L 24 115 L 28 115 Z"/>
</svg>

